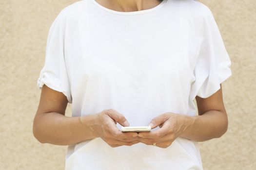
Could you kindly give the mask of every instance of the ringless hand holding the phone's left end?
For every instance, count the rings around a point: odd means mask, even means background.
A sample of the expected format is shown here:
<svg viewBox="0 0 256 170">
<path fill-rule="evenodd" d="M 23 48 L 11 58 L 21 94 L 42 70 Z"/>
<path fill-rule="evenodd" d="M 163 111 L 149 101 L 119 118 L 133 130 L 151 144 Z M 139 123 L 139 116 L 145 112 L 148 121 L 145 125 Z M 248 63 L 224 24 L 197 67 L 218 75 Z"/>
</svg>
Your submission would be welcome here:
<svg viewBox="0 0 256 170">
<path fill-rule="evenodd" d="M 121 132 L 117 122 L 122 126 L 129 126 L 125 117 L 115 109 L 105 109 L 97 114 L 92 130 L 112 148 L 126 145 L 131 146 L 138 142 L 137 132 Z"/>
</svg>

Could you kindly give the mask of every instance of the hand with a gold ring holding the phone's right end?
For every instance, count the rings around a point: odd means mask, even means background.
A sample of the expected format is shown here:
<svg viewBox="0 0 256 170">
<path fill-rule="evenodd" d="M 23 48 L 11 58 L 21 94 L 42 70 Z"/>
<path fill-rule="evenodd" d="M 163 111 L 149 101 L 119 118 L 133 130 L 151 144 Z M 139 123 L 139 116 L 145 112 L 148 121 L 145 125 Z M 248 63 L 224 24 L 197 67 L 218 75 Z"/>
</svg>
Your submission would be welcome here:
<svg viewBox="0 0 256 170">
<path fill-rule="evenodd" d="M 189 130 L 191 125 L 192 119 L 190 116 L 172 112 L 163 113 L 149 123 L 151 129 L 158 126 L 160 129 L 151 132 L 139 132 L 138 140 L 147 145 L 156 143 L 156 146 L 160 148 L 167 148 L 184 131 Z"/>
</svg>

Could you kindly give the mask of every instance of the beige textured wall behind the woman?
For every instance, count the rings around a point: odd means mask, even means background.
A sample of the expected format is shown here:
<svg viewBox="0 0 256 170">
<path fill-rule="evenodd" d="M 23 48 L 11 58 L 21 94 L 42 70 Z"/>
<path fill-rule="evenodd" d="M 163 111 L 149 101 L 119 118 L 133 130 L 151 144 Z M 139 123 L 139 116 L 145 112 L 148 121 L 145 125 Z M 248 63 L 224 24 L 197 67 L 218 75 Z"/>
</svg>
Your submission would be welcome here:
<svg viewBox="0 0 256 170">
<path fill-rule="evenodd" d="M 75 1 L 0 0 L 0 170 L 64 169 L 66 146 L 40 144 L 32 123 L 49 27 Z M 217 20 L 233 71 L 222 87 L 229 129 L 200 142 L 204 169 L 256 170 L 256 1 L 200 1 Z"/>
</svg>

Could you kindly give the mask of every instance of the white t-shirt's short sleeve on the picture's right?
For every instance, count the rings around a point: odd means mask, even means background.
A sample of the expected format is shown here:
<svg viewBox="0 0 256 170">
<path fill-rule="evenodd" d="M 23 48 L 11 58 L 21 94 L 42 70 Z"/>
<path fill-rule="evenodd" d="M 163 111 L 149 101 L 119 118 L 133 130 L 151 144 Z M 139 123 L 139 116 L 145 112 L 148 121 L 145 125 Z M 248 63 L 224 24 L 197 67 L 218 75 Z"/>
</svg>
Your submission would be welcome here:
<svg viewBox="0 0 256 170">
<path fill-rule="evenodd" d="M 208 98 L 220 89 L 220 84 L 232 75 L 231 60 L 226 51 L 215 18 L 208 7 L 203 8 L 203 40 L 194 68 L 195 82 L 191 98 Z"/>
</svg>

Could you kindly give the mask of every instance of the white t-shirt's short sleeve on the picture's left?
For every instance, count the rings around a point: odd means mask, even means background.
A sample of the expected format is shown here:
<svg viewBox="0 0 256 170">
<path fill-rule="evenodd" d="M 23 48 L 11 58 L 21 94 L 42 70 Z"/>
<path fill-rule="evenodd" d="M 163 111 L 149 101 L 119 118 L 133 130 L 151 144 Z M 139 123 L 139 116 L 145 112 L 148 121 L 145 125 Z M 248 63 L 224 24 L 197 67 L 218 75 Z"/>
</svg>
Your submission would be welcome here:
<svg viewBox="0 0 256 170">
<path fill-rule="evenodd" d="M 62 10 L 53 21 L 46 44 L 44 66 L 39 73 L 38 88 L 45 84 L 53 90 L 62 92 L 72 103 L 69 78 L 64 56 L 65 15 Z"/>
</svg>

